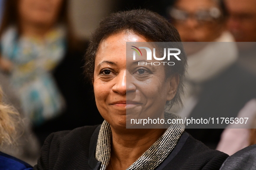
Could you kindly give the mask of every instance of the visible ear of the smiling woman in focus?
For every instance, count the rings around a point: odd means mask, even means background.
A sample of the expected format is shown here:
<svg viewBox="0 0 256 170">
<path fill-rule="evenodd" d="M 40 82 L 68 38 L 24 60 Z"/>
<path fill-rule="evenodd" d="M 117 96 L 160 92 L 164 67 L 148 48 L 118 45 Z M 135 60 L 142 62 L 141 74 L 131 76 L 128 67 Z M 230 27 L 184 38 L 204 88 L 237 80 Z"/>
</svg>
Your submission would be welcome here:
<svg viewBox="0 0 256 170">
<path fill-rule="evenodd" d="M 179 83 L 179 75 L 175 74 L 172 77 L 168 78 L 168 83 L 170 85 L 170 88 L 167 92 L 167 101 L 170 101 L 174 98 L 175 94 L 177 93 L 178 90 L 178 83 Z"/>
</svg>

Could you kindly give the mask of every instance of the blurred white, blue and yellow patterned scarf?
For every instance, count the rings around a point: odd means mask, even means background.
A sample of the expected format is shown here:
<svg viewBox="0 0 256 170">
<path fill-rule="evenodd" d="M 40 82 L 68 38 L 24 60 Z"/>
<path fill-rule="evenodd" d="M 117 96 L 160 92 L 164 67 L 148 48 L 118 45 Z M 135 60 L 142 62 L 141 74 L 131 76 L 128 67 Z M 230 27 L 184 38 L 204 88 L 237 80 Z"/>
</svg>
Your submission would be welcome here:
<svg viewBox="0 0 256 170">
<path fill-rule="evenodd" d="M 39 39 L 18 37 L 16 28 L 10 27 L 1 37 L 0 48 L 1 56 L 13 64 L 10 82 L 34 125 L 61 113 L 65 102 L 51 71 L 65 55 L 65 30 L 58 27 Z"/>
</svg>

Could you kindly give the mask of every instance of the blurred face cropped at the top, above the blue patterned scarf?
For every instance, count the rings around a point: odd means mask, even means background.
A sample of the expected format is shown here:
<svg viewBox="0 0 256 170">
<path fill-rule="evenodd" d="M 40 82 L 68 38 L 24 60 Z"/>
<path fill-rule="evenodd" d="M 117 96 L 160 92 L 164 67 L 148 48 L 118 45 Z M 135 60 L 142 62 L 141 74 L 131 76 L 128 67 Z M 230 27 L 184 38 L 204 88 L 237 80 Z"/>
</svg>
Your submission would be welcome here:
<svg viewBox="0 0 256 170">
<path fill-rule="evenodd" d="M 19 0 L 19 19 L 26 24 L 51 26 L 58 18 L 63 0 Z"/>
</svg>

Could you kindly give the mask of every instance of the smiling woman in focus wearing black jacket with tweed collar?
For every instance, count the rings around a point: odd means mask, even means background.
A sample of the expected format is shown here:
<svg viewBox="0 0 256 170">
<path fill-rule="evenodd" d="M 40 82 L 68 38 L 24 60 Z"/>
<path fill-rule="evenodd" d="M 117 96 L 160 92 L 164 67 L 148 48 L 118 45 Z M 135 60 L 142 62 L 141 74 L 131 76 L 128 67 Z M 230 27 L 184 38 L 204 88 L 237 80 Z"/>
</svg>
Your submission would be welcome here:
<svg viewBox="0 0 256 170">
<path fill-rule="evenodd" d="M 126 128 L 126 114 L 164 117 L 166 103 L 180 103 L 186 56 L 175 66 L 138 66 L 126 58 L 126 42 L 180 42 L 167 20 L 148 10 L 113 13 L 94 32 L 85 70 L 105 121 L 50 135 L 36 170 L 216 170 L 227 154 L 213 151 L 186 132 L 183 124 L 166 128 Z M 182 47 L 180 47 L 183 51 Z M 142 53 L 143 55 L 143 53 Z M 51 158 L 51 159 L 50 159 Z"/>
</svg>

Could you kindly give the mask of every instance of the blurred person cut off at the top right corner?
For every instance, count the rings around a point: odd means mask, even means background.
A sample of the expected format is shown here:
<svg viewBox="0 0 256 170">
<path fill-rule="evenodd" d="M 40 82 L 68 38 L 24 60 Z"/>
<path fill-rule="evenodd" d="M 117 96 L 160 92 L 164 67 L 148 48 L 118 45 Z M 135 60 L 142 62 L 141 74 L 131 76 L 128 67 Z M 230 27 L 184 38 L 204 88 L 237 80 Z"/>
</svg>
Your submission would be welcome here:
<svg viewBox="0 0 256 170">
<path fill-rule="evenodd" d="M 227 26 L 239 47 L 239 63 L 256 75 L 256 1 L 224 2 L 230 16 Z"/>
</svg>

